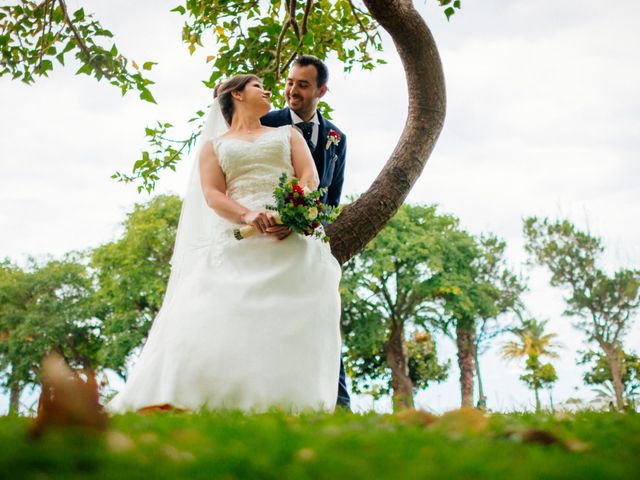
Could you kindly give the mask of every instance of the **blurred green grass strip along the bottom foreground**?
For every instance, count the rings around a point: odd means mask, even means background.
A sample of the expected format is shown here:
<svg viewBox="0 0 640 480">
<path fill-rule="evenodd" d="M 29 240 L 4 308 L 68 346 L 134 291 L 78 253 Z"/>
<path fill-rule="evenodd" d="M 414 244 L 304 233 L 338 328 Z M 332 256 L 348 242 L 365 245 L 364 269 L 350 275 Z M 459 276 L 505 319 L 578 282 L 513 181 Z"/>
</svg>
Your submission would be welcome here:
<svg viewBox="0 0 640 480">
<path fill-rule="evenodd" d="M 109 432 L 0 418 L 0 478 L 640 478 L 640 415 L 126 415 Z M 549 434 L 550 445 L 527 441 Z"/>
</svg>

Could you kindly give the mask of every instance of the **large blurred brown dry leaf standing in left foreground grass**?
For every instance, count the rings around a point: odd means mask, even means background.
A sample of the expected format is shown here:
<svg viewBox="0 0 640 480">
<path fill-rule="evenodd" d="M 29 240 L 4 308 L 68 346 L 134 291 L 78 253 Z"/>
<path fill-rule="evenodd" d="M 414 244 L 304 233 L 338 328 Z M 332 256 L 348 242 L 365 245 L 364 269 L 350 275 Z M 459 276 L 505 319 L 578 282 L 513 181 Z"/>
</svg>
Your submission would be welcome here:
<svg viewBox="0 0 640 480">
<path fill-rule="evenodd" d="M 38 437 L 52 426 L 106 429 L 107 415 L 100 405 L 93 372 L 86 372 L 84 381 L 60 355 L 50 354 L 42 361 L 41 375 L 42 393 L 31 436 Z"/>
</svg>

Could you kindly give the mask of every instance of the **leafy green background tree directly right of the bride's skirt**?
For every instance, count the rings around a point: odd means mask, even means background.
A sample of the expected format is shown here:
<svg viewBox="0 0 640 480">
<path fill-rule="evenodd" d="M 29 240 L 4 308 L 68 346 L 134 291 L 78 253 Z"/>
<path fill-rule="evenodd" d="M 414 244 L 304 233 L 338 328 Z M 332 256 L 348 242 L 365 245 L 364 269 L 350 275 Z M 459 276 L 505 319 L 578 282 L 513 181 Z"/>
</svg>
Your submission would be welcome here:
<svg viewBox="0 0 640 480">
<path fill-rule="evenodd" d="M 435 207 L 403 205 L 385 229 L 344 266 L 341 284 L 346 364 L 356 392 L 392 392 L 395 410 L 416 390 L 447 376 L 438 363 L 429 312 L 436 308 L 440 251 L 469 238 Z"/>
</svg>

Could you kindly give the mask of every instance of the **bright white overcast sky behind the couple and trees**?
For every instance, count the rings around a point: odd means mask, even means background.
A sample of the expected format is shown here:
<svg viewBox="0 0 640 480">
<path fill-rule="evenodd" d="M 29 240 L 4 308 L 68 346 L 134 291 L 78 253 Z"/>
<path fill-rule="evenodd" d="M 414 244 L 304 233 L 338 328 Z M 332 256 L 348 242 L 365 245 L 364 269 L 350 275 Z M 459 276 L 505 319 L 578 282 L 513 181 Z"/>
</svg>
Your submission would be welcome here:
<svg viewBox="0 0 640 480">
<path fill-rule="evenodd" d="M 0 4 L 10 2 L 0 1 Z M 122 97 L 118 89 L 74 68 L 57 68 L 26 86 L 0 78 L 0 257 L 59 256 L 114 240 L 135 202 L 148 199 L 110 176 L 130 171 L 146 148 L 144 127 L 177 125 L 208 105 L 207 49 L 193 56 L 180 41 L 179 2 L 70 0 L 115 34 L 120 51 L 139 64 L 159 64 L 157 105 Z M 447 22 L 435 0 L 418 0 L 440 49 L 447 84 L 447 118 L 412 203 L 437 203 L 474 234 L 507 241 L 509 263 L 528 278 L 530 314 L 548 319 L 563 344 L 553 363 L 554 402 L 593 398 L 576 365 L 584 334 L 563 317 L 563 293 L 549 273 L 524 264 L 522 219 L 569 218 L 600 236 L 607 271 L 640 265 L 640 3 L 621 0 L 485 0 L 463 2 Z M 373 72 L 346 74 L 329 61 L 325 100 L 349 136 L 344 195 L 365 191 L 389 157 L 405 123 L 402 66 L 388 36 Z M 188 162 L 167 172 L 156 193 L 184 191 Z M 532 408 L 533 394 L 518 380 L 522 365 L 499 356 L 500 339 L 480 358 L 488 405 Z M 455 348 L 439 338 L 449 379 L 417 395 L 421 408 L 442 412 L 460 402 Z M 636 319 L 625 345 L 640 350 Z M 26 396 L 25 396 L 26 397 Z M 548 403 L 543 394 L 543 403 Z M 23 399 L 30 403 L 33 399 Z M 355 400 L 357 410 L 388 411 L 388 399 Z M 6 411 L 0 397 L 0 412 Z"/>
</svg>

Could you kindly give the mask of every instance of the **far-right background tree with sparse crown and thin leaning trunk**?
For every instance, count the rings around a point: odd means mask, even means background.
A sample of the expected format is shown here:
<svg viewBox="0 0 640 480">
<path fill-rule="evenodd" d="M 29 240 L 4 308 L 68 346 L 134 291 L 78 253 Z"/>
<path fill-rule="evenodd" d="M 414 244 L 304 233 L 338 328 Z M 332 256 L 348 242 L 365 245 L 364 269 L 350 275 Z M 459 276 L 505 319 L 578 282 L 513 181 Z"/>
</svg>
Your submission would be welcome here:
<svg viewBox="0 0 640 480">
<path fill-rule="evenodd" d="M 618 353 L 640 307 L 640 270 L 620 269 L 608 275 L 597 266 L 602 241 L 568 220 L 536 217 L 524 222 L 526 250 L 551 271 L 551 285 L 567 292 L 564 314 L 576 319 L 588 342 L 604 353 L 611 371 L 616 406 L 624 407 L 624 384 Z"/>
</svg>

